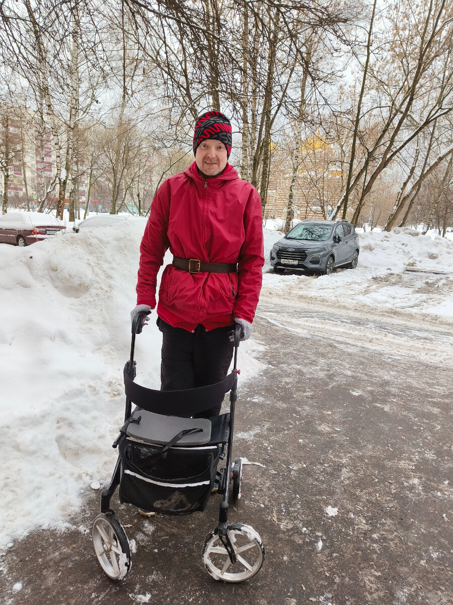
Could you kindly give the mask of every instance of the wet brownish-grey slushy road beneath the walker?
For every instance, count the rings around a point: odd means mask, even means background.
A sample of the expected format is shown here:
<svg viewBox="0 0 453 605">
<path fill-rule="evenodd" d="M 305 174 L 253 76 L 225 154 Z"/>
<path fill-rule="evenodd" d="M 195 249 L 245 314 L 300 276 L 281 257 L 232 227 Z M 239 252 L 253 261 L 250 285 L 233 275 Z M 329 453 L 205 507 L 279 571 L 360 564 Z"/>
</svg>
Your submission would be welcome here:
<svg viewBox="0 0 453 605">
<path fill-rule="evenodd" d="M 240 384 L 234 441 L 250 463 L 230 520 L 260 533 L 260 573 L 235 585 L 205 572 L 213 496 L 204 514 L 180 518 L 118 504 L 137 552 L 113 583 L 92 551 L 90 491 L 67 531 L 33 532 L 1 558 L 2 603 L 453 603 L 449 325 L 303 298 L 278 305 L 264 293 L 254 322 L 262 370 Z"/>
</svg>

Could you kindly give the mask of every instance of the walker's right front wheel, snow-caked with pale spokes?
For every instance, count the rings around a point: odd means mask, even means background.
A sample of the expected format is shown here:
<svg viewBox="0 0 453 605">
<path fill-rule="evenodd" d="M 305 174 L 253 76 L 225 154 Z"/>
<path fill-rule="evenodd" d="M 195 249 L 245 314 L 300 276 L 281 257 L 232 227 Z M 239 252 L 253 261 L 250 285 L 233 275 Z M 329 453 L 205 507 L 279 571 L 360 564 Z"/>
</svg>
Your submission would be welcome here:
<svg viewBox="0 0 453 605">
<path fill-rule="evenodd" d="M 236 554 L 236 563 L 231 563 L 230 555 L 219 538 L 219 528 L 207 535 L 202 558 L 208 574 L 214 580 L 223 582 L 243 582 L 257 574 L 265 558 L 265 549 L 257 532 L 249 525 L 234 523 L 228 525 L 228 537 Z"/>
</svg>

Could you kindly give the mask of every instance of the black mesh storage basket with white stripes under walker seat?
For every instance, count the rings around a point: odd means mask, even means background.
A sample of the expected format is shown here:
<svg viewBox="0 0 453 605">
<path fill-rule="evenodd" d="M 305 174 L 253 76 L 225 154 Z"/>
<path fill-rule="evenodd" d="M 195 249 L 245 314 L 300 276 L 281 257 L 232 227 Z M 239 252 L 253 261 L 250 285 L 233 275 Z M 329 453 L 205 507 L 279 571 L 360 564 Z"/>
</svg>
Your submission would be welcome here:
<svg viewBox="0 0 453 605">
<path fill-rule="evenodd" d="M 219 445 L 172 447 L 120 443 L 120 502 L 166 515 L 204 511 L 217 471 Z"/>
</svg>

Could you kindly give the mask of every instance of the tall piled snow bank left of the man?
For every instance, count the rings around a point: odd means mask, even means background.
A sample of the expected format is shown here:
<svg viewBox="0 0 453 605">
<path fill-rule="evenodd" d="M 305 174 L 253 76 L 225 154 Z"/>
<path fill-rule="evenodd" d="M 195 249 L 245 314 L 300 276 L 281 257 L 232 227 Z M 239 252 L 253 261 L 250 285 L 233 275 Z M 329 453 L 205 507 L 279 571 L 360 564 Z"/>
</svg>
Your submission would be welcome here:
<svg viewBox="0 0 453 605">
<path fill-rule="evenodd" d="M 113 468 L 144 223 L 121 227 L 1 248 L 0 545 L 69 517 Z M 158 334 L 138 345 L 154 384 Z"/>
</svg>

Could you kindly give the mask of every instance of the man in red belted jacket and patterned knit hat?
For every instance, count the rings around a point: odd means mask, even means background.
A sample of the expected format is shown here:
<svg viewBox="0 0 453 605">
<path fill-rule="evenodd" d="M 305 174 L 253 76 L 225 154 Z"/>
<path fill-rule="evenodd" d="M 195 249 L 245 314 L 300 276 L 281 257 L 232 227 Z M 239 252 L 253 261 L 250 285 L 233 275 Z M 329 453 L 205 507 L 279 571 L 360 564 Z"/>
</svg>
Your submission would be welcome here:
<svg viewBox="0 0 453 605">
<path fill-rule="evenodd" d="M 137 306 L 156 306 L 156 277 L 170 248 L 159 288 L 161 390 L 222 381 L 233 356 L 231 333 L 251 335 L 262 283 L 262 208 L 257 190 L 228 163 L 231 123 L 220 111 L 196 122 L 195 162 L 162 183 L 140 245 Z M 217 416 L 222 402 L 199 416 Z M 190 410 L 188 410 L 190 414 Z"/>
</svg>

